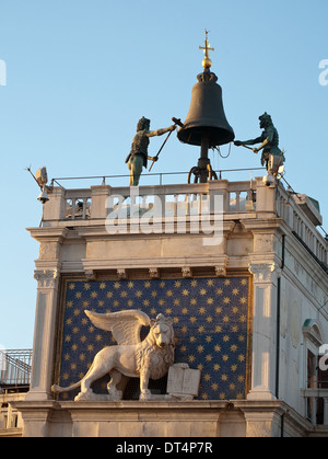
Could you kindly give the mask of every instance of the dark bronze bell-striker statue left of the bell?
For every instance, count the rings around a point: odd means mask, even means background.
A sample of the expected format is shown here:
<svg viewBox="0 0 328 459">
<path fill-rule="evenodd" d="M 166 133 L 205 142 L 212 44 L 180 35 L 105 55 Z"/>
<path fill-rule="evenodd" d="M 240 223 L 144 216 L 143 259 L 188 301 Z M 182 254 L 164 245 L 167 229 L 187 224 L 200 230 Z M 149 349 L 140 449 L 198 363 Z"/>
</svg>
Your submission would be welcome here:
<svg viewBox="0 0 328 459">
<path fill-rule="evenodd" d="M 157 161 L 157 157 L 148 156 L 148 146 L 149 138 L 154 136 L 163 136 L 163 134 L 173 131 L 176 128 L 176 125 L 166 127 L 164 129 L 149 130 L 150 129 L 150 119 L 147 119 L 142 116 L 139 119 L 137 125 L 137 134 L 133 137 L 131 151 L 126 159 L 128 168 L 130 170 L 130 186 L 138 186 L 140 175 L 142 172 L 142 167 L 147 168 L 147 161 Z"/>
</svg>

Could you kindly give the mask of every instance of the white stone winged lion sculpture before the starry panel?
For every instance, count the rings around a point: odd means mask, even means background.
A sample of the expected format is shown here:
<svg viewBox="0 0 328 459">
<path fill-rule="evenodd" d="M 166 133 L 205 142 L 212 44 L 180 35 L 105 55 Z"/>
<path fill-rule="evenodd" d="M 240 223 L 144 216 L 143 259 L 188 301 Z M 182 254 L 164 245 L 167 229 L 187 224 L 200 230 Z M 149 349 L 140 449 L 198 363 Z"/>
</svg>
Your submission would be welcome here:
<svg viewBox="0 0 328 459">
<path fill-rule="evenodd" d="M 110 331 L 117 345 L 106 346 L 99 351 L 86 372 L 77 383 L 61 388 L 52 386 L 54 392 L 67 392 L 81 386 L 78 400 L 95 400 L 91 385 L 109 374 L 107 385 L 108 399 L 121 400 L 122 392 L 117 389 L 122 375 L 140 378 L 140 400 L 151 399 L 148 389 L 149 379 L 160 379 L 165 376 L 174 364 L 174 330 L 171 318 L 159 314 L 150 319 L 147 313 L 138 310 L 127 310 L 110 313 L 84 311 L 91 322 L 98 329 Z M 141 341 L 142 325 L 150 325 L 148 336 Z"/>
</svg>

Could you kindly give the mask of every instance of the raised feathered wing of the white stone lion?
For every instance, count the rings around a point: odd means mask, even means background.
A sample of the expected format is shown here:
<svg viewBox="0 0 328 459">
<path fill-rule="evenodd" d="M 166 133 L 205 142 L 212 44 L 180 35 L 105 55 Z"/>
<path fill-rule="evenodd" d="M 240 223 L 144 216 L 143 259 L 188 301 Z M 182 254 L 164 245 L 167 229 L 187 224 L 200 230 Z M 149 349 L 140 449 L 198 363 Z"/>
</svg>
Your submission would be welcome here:
<svg viewBox="0 0 328 459">
<path fill-rule="evenodd" d="M 150 318 L 144 312 L 134 309 L 105 314 L 84 312 L 95 326 L 112 332 L 120 345 L 140 343 L 141 326 L 150 324 Z"/>
</svg>

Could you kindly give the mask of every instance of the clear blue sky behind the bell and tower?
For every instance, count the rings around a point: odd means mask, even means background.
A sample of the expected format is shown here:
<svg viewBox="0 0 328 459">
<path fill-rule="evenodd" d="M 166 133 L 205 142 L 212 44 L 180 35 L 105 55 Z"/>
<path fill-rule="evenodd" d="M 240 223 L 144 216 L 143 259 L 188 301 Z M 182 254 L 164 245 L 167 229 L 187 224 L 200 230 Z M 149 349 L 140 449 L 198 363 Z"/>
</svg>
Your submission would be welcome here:
<svg viewBox="0 0 328 459">
<path fill-rule="evenodd" d="M 285 179 L 320 202 L 327 230 L 327 0 L 0 0 L 0 344 L 33 344 L 38 244 L 25 228 L 38 227 L 42 206 L 24 169 L 46 165 L 50 179 L 127 173 L 141 116 L 152 128 L 186 118 L 206 27 L 236 138 L 257 137 L 258 116 L 271 114 Z M 210 156 L 216 169 L 259 167 L 243 148 Z M 198 157 L 172 136 L 153 171 L 187 171 Z"/>
</svg>

